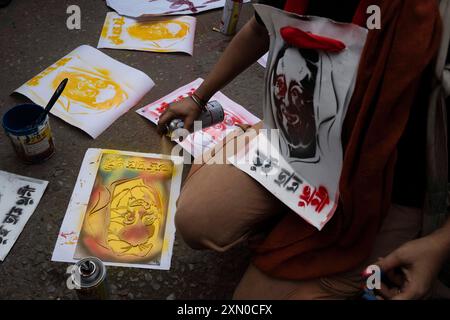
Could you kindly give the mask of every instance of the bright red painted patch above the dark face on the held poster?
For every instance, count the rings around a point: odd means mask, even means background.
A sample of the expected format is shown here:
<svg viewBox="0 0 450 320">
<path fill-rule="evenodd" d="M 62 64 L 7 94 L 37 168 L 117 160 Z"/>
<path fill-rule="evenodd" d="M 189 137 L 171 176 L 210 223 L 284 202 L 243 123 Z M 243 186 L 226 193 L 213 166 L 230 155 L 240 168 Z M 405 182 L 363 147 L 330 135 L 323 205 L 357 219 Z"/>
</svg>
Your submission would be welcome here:
<svg viewBox="0 0 450 320">
<path fill-rule="evenodd" d="M 294 27 L 283 27 L 280 29 L 280 34 L 284 41 L 297 48 L 324 50 L 328 52 L 339 52 L 345 49 L 345 44 L 342 41 L 322 37 Z"/>
</svg>

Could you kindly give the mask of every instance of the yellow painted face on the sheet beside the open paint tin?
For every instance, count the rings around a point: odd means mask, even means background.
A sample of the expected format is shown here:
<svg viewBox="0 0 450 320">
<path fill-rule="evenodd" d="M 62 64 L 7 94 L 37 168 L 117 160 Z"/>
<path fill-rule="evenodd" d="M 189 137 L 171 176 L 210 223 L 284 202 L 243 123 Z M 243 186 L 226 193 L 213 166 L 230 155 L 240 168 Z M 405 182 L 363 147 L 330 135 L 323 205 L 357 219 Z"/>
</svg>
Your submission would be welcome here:
<svg viewBox="0 0 450 320">
<path fill-rule="evenodd" d="M 100 74 L 78 69 L 60 72 L 53 80 L 54 89 L 64 78 L 69 82 L 62 95 L 88 109 L 109 110 L 127 98 L 120 85 L 109 78 L 107 71 Z"/>
</svg>

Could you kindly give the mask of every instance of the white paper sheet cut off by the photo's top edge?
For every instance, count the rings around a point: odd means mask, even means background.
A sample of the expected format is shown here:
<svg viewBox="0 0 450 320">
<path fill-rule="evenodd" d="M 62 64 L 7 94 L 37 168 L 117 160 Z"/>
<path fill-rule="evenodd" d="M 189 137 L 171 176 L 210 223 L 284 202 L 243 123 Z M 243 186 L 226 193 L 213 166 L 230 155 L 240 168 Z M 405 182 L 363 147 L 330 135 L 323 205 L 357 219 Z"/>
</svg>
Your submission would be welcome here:
<svg viewBox="0 0 450 320">
<path fill-rule="evenodd" d="M 106 0 L 106 4 L 120 15 L 138 18 L 146 15 L 195 14 L 223 8 L 225 0 Z"/>
</svg>

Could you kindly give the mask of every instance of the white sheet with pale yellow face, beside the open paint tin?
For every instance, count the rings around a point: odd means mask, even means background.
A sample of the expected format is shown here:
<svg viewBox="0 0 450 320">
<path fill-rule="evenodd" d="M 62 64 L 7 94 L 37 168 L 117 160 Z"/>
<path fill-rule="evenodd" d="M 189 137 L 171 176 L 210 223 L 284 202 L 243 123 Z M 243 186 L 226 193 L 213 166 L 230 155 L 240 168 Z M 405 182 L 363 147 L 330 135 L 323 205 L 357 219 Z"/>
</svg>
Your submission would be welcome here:
<svg viewBox="0 0 450 320">
<path fill-rule="evenodd" d="M 154 86 L 145 73 L 83 45 L 15 92 L 45 106 L 64 78 L 69 82 L 51 113 L 93 138 L 135 106 Z"/>
</svg>

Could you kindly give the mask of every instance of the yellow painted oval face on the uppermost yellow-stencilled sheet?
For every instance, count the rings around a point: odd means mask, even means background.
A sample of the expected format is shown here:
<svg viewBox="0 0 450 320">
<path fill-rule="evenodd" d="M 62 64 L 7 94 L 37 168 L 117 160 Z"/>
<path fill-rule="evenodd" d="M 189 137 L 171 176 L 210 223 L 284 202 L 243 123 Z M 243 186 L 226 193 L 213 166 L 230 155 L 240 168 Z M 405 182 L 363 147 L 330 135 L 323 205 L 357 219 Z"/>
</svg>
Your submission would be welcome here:
<svg viewBox="0 0 450 320">
<path fill-rule="evenodd" d="M 189 24 L 182 21 L 149 21 L 128 27 L 128 34 L 140 40 L 158 41 L 182 39 L 189 32 Z"/>
</svg>

